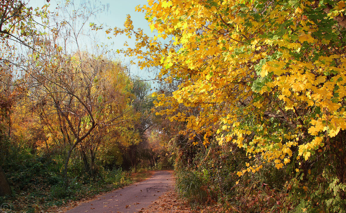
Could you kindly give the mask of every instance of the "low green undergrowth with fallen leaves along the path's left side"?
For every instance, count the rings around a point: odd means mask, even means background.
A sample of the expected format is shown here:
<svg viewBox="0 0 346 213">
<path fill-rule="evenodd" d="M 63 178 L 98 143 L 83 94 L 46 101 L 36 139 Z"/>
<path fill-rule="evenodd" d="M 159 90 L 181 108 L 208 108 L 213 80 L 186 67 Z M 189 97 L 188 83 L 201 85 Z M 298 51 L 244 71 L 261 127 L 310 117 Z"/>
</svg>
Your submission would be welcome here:
<svg viewBox="0 0 346 213">
<path fill-rule="evenodd" d="M 119 187 L 137 182 L 148 175 L 115 169 L 100 170 L 91 177 L 87 173 L 76 173 L 74 166 L 78 159 L 73 159 L 69 170 L 69 187 L 65 188 L 62 175 L 62 164 L 54 156 L 35 157 L 28 153 L 7 160 L 4 171 L 12 186 L 12 195 L 0 197 L 0 203 L 8 203 L 12 212 L 34 213 L 45 211 L 51 207 L 66 205 L 74 201 L 91 198 L 102 192 L 112 191 Z M 102 168 L 102 167 L 101 167 Z M 74 177 L 73 177 L 74 176 Z M 72 178 L 73 177 L 73 178 Z"/>
</svg>

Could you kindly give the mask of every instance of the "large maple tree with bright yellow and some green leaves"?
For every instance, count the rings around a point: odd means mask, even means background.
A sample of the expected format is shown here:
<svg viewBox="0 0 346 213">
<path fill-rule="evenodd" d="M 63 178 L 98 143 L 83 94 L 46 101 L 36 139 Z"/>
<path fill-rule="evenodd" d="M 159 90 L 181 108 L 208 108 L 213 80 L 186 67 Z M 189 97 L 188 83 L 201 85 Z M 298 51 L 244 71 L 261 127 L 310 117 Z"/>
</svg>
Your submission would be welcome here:
<svg viewBox="0 0 346 213">
<path fill-rule="evenodd" d="M 244 149 L 239 177 L 276 167 L 303 180 L 330 153 L 345 183 L 344 1 L 149 0 L 137 11 L 154 37 L 130 17 L 106 32 L 136 37 L 120 51 L 178 85 L 153 94 L 157 115 L 184 124 L 194 144 Z"/>
</svg>

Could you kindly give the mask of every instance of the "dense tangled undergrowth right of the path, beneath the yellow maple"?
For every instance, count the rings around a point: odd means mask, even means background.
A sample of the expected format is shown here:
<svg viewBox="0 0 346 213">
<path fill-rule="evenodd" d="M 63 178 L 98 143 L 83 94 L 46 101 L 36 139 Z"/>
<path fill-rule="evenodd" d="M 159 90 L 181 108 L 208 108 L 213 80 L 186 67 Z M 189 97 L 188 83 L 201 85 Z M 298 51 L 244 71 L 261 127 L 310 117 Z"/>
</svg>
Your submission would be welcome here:
<svg viewBox="0 0 346 213">
<path fill-rule="evenodd" d="M 204 152 L 193 147 L 190 155 L 178 154 L 175 188 L 195 209 L 216 205 L 224 212 L 346 212 L 346 184 L 335 176 L 338 162 L 311 158 L 312 163 L 287 164 L 284 170 L 266 165 L 238 176 L 247 168 L 247 157 L 242 149 L 233 147 L 231 154 L 223 150 L 230 148 L 214 145 Z"/>
</svg>

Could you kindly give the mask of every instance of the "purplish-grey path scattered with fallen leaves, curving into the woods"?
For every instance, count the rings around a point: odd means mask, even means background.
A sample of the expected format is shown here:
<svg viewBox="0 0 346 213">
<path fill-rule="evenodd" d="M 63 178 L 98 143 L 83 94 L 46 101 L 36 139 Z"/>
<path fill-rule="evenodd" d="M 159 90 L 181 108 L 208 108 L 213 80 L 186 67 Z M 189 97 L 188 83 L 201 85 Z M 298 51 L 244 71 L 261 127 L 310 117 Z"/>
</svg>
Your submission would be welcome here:
<svg viewBox="0 0 346 213">
<path fill-rule="evenodd" d="M 95 200 L 85 202 L 66 213 L 134 213 L 142 212 L 158 196 L 174 187 L 172 172 L 156 171 L 145 181 L 99 195 Z"/>
</svg>

